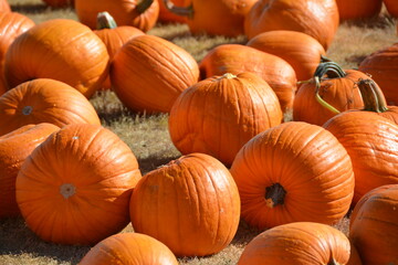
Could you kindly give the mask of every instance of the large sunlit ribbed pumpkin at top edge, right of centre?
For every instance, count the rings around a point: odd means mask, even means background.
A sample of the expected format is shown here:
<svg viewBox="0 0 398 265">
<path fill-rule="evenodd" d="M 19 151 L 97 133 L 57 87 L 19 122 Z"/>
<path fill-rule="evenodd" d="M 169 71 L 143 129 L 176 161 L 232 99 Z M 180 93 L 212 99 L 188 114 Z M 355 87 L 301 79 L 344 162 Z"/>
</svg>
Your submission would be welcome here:
<svg viewBox="0 0 398 265">
<path fill-rule="evenodd" d="M 244 20 L 249 39 L 273 30 L 300 31 L 317 40 L 325 51 L 339 23 L 335 0 L 259 0 Z"/>
</svg>

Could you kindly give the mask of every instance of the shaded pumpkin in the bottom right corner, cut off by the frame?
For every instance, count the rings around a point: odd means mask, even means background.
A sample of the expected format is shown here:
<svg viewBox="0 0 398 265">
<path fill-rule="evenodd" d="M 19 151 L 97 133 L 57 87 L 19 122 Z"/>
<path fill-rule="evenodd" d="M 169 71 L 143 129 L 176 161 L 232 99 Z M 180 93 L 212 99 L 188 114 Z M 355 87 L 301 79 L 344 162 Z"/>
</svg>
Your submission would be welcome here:
<svg viewBox="0 0 398 265">
<path fill-rule="evenodd" d="M 398 264 L 397 209 L 398 184 L 369 191 L 354 208 L 349 240 L 364 264 Z"/>
</svg>

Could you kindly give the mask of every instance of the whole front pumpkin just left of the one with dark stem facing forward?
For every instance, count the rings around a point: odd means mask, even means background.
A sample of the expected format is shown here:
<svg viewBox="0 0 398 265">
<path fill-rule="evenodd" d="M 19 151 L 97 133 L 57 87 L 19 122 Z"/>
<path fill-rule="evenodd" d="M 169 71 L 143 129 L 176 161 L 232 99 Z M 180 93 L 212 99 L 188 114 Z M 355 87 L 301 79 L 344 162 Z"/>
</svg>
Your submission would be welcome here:
<svg viewBox="0 0 398 265">
<path fill-rule="evenodd" d="M 190 153 L 139 180 L 130 218 L 134 231 L 163 242 L 176 256 L 211 255 L 222 251 L 238 230 L 238 189 L 216 158 Z"/>
</svg>

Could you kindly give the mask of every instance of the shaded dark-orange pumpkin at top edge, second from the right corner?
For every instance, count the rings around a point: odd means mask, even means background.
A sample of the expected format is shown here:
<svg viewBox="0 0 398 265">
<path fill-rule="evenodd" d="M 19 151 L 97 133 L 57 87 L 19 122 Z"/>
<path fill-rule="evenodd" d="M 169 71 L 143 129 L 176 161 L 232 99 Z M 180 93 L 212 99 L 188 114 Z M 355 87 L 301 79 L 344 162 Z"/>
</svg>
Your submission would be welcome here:
<svg viewBox="0 0 398 265">
<path fill-rule="evenodd" d="M 383 0 L 336 0 L 341 20 L 375 18 L 380 13 Z"/>
</svg>

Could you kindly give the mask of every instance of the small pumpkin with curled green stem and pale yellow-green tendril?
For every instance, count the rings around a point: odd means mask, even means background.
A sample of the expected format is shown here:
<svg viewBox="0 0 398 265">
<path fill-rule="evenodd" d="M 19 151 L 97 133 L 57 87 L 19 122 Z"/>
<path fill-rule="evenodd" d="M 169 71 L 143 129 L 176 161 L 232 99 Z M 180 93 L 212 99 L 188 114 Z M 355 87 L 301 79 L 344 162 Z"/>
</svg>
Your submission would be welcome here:
<svg viewBox="0 0 398 265">
<path fill-rule="evenodd" d="M 293 120 L 322 126 L 341 112 L 363 108 L 357 82 L 368 77 L 357 70 L 344 71 L 334 62 L 321 63 L 294 97 Z"/>
</svg>

